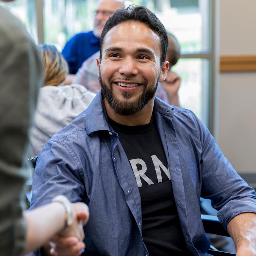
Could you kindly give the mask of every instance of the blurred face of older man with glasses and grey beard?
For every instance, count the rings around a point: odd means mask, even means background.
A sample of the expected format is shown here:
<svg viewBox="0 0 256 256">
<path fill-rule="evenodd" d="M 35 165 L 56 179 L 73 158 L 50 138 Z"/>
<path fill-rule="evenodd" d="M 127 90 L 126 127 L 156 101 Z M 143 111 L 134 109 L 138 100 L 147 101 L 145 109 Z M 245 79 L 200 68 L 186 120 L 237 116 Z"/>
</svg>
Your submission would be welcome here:
<svg viewBox="0 0 256 256">
<path fill-rule="evenodd" d="M 95 17 L 94 17 L 94 35 L 100 38 L 103 27 L 110 16 L 114 14 L 116 9 L 122 7 L 124 4 L 119 0 L 102 0 L 99 2 Z"/>
</svg>

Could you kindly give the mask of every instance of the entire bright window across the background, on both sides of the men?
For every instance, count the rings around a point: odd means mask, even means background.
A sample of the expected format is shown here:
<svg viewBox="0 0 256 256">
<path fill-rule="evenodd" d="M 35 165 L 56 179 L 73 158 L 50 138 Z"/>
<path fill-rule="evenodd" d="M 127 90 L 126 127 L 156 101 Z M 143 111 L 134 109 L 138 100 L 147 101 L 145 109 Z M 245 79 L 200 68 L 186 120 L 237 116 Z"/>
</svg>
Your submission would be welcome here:
<svg viewBox="0 0 256 256">
<path fill-rule="evenodd" d="M 166 29 L 178 39 L 182 57 L 173 67 L 173 71 L 182 78 L 179 90 L 181 105 L 194 111 L 211 130 L 213 1 L 126 2 L 129 3 L 144 5 L 155 12 Z M 60 51 L 75 33 L 93 29 L 95 0 L 17 0 L 4 5 L 22 19 L 33 38 L 39 38 L 40 43 L 55 44 Z"/>
</svg>

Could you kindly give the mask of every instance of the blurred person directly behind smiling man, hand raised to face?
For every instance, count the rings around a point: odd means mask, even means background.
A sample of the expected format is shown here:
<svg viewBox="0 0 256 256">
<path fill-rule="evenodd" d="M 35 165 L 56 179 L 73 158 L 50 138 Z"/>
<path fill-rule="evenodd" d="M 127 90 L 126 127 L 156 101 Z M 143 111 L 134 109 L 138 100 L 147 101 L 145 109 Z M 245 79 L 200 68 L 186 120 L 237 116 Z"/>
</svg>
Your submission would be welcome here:
<svg viewBox="0 0 256 256">
<path fill-rule="evenodd" d="M 156 90 L 156 97 L 173 106 L 180 106 L 178 90 L 181 84 L 181 77 L 171 71 L 180 58 L 180 45 L 173 34 L 168 33 L 168 49 L 166 60 L 170 63 L 169 72 L 165 81 L 159 82 Z M 98 93 L 100 90 L 99 74 L 96 59 L 100 52 L 95 53 L 83 62 L 82 67 L 77 71 L 73 83 L 81 84 L 88 90 Z"/>
</svg>

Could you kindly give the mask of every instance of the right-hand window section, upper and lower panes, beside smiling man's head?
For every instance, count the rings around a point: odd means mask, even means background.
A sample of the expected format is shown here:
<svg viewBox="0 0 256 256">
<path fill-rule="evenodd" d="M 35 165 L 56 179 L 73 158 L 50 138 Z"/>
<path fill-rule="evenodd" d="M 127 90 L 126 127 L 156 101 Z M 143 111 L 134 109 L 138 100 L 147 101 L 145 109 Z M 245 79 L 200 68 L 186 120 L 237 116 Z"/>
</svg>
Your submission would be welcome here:
<svg viewBox="0 0 256 256">
<path fill-rule="evenodd" d="M 173 71 L 182 78 L 180 103 L 210 126 L 212 73 L 211 0 L 132 0 L 155 12 L 181 46 Z"/>
</svg>

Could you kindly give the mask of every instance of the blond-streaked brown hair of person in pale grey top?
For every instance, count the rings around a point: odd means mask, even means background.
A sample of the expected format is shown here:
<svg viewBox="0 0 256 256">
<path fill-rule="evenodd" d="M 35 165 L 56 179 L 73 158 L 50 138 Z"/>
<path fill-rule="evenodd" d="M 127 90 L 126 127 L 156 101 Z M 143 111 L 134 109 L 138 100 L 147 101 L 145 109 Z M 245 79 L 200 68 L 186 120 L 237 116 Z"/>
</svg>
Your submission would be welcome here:
<svg viewBox="0 0 256 256">
<path fill-rule="evenodd" d="M 41 44 L 39 49 L 44 71 L 43 86 L 61 84 L 69 72 L 67 61 L 54 45 Z"/>
</svg>

